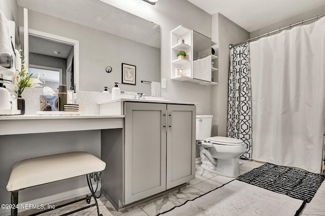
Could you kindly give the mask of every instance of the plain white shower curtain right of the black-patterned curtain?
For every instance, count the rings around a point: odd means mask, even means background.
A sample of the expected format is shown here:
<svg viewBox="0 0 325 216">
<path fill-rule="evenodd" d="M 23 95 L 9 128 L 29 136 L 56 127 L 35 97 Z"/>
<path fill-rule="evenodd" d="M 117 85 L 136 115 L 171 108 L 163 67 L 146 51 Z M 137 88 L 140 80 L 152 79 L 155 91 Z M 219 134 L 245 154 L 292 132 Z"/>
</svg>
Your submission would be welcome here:
<svg viewBox="0 0 325 216">
<path fill-rule="evenodd" d="M 321 172 L 325 17 L 250 43 L 253 155 Z"/>
</svg>

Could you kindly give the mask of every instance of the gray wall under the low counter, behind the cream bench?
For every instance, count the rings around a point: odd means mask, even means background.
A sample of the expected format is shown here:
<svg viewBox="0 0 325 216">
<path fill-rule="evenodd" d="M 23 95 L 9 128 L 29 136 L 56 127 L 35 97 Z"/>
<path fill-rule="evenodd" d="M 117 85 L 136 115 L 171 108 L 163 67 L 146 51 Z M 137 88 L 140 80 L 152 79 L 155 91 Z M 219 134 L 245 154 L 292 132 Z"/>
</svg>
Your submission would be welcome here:
<svg viewBox="0 0 325 216">
<path fill-rule="evenodd" d="M 50 121 L 48 126 L 51 127 Z M 3 135 L 0 136 L 0 149 L 0 203 L 10 203 L 10 192 L 7 191 L 6 186 L 15 162 L 32 157 L 73 151 L 85 151 L 101 157 L 101 131 Z M 82 176 L 29 188 L 19 192 L 19 202 L 86 186 L 86 177 Z"/>
</svg>

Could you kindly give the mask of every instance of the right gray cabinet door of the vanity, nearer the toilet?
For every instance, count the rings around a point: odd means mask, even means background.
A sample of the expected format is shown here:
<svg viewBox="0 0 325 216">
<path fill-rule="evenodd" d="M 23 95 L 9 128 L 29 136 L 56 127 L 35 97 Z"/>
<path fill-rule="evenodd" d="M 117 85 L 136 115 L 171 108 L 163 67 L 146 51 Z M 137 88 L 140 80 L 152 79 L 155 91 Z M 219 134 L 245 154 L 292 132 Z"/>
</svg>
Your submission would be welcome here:
<svg viewBox="0 0 325 216">
<path fill-rule="evenodd" d="M 196 106 L 168 104 L 167 189 L 195 178 Z"/>
</svg>

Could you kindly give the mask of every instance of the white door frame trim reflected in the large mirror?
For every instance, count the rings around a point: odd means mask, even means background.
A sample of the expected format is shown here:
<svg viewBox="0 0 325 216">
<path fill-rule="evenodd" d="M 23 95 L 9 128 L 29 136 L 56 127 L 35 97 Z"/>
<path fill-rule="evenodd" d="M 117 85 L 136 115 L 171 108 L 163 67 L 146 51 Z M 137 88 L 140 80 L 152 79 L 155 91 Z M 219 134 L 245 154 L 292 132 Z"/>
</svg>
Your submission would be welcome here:
<svg viewBox="0 0 325 216">
<path fill-rule="evenodd" d="M 55 41 L 61 44 L 68 44 L 74 47 L 74 81 L 76 84 L 76 91 L 79 91 L 79 41 L 30 28 L 28 29 L 28 37 L 29 35 L 50 41 Z M 29 60 L 29 57 L 27 57 L 27 59 Z"/>
</svg>

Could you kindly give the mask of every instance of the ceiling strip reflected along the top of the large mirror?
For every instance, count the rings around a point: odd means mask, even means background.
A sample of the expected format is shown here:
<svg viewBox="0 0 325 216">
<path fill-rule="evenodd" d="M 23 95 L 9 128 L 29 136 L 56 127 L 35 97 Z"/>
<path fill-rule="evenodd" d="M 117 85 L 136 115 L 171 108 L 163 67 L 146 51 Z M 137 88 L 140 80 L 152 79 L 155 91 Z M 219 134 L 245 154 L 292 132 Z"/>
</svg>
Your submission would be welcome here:
<svg viewBox="0 0 325 216">
<path fill-rule="evenodd" d="M 160 26 L 99 0 L 16 0 L 38 11 L 160 48 Z"/>
</svg>

